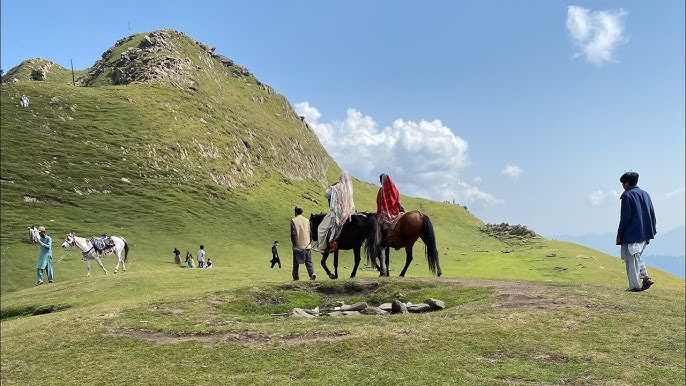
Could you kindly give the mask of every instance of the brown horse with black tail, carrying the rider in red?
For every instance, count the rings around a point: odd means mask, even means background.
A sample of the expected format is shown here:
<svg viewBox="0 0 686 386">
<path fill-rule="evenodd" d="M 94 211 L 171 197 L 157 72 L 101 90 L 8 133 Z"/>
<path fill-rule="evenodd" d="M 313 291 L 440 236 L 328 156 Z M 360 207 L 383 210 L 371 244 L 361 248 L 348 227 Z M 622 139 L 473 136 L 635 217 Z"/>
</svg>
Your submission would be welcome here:
<svg viewBox="0 0 686 386">
<path fill-rule="evenodd" d="M 367 249 L 367 260 L 376 265 L 376 258 L 379 259 L 380 276 L 390 276 L 389 273 L 389 248 L 405 248 L 405 267 L 400 272 L 400 276 L 405 276 L 407 268 L 412 262 L 412 247 L 421 237 L 426 246 L 426 258 L 429 263 L 429 270 L 436 276 L 441 276 L 441 266 L 438 263 L 438 249 L 436 248 L 436 236 L 434 227 L 429 216 L 419 211 L 405 213 L 396 222 L 395 227 L 388 231 L 386 240 L 377 240 L 374 237 L 374 248 Z M 386 254 L 386 263 L 381 258 L 381 251 Z"/>
</svg>

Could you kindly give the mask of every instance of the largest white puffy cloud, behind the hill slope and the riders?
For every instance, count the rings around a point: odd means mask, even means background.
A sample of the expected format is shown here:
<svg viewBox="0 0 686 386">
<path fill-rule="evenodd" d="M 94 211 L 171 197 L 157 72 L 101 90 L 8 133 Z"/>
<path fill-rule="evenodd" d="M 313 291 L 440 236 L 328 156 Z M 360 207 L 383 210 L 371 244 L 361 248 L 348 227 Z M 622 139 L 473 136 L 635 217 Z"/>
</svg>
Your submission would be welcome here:
<svg viewBox="0 0 686 386">
<path fill-rule="evenodd" d="M 320 122 L 321 114 L 308 102 L 294 105 L 338 165 L 356 178 L 378 183 L 389 174 L 402 194 L 491 206 L 503 200 L 460 178 L 469 166 L 467 141 L 440 120 L 396 119 L 380 128 L 374 119 L 349 108 L 343 121 Z"/>
</svg>

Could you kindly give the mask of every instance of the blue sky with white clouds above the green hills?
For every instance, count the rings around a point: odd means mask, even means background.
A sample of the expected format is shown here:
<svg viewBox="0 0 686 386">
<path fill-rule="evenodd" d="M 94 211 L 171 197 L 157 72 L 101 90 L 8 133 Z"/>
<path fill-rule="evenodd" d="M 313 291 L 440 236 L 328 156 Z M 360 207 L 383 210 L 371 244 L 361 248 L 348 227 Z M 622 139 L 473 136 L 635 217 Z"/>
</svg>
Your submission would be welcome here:
<svg viewBox="0 0 686 386">
<path fill-rule="evenodd" d="M 403 194 L 557 237 L 615 232 L 633 170 L 658 232 L 684 225 L 683 1 L 1 7 L 5 72 L 34 57 L 85 69 L 172 28 L 284 95 L 358 179 L 388 173 Z"/>
</svg>

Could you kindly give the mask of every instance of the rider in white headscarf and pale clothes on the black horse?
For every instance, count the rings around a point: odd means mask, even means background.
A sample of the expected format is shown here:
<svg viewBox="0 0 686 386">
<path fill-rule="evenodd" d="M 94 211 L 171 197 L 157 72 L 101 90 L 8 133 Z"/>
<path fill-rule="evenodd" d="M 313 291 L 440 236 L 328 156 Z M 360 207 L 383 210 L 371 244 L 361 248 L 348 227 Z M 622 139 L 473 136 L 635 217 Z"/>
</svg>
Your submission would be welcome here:
<svg viewBox="0 0 686 386">
<path fill-rule="evenodd" d="M 329 213 L 324 216 L 319 228 L 317 228 L 317 247 L 315 248 L 321 253 L 326 251 L 327 241 L 332 242 L 338 239 L 343 225 L 348 221 L 350 215 L 355 213 L 353 182 L 350 173 L 342 171 L 338 176 L 338 181 L 326 189 L 324 197 L 329 200 Z M 326 240 L 329 229 L 331 229 L 331 234 Z"/>
</svg>

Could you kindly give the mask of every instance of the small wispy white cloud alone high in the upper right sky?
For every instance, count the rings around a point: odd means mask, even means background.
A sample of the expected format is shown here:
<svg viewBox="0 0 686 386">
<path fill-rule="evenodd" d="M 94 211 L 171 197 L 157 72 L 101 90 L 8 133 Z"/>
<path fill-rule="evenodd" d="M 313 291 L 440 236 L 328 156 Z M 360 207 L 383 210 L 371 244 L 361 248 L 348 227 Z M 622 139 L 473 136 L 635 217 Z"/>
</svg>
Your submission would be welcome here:
<svg viewBox="0 0 686 386">
<path fill-rule="evenodd" d="M 627 11 L 590 11 L 570 5 L 567 8 L 567 30 L 586 60 L 602 65 L 613 61 L 613 51 L 628 39 L 624 36 Z"/>
</svg>

